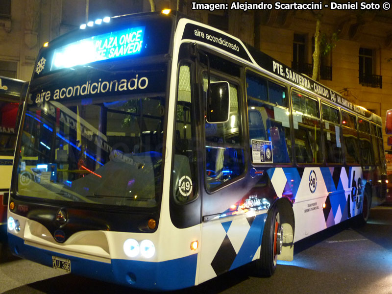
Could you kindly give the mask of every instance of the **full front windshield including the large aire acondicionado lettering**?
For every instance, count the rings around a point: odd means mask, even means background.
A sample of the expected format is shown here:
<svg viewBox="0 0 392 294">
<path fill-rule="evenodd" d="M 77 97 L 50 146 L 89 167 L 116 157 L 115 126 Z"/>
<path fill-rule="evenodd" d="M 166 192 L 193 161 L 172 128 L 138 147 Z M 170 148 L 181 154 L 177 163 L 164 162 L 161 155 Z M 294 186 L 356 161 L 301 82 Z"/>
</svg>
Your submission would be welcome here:
<svg viewBox="0 0 392 294">
<path fill-rule="evenodd" d="M 81 67 L 30 86 L 18 195 L 155 207 L 161 195 L 167 64 Z"/>
</svg>

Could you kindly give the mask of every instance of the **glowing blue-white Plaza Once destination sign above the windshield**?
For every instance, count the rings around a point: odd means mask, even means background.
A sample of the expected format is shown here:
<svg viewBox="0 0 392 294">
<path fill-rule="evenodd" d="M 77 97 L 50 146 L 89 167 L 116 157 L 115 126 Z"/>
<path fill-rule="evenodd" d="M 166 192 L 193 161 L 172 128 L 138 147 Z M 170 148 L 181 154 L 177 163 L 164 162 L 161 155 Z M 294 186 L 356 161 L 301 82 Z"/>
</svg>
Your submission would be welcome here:
<svg viewBox="0 0 392 294">
<path fill-rule="evenodd" d="M 54 50 L 50 71 L 99 60 L 139 54 L 145 26 L 126 28 L 79 40 Z"/>
</svg>

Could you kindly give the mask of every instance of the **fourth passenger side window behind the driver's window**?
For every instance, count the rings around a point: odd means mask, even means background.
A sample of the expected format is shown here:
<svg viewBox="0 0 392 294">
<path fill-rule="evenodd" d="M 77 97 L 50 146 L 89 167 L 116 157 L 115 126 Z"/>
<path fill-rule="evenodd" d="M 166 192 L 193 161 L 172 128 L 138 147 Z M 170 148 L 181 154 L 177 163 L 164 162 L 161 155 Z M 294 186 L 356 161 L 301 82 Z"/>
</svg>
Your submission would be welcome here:
<svg viewBox="0 0 392 294">
<path fill-rule="evenodd" d="M 343 143 L 346 162 L 359 164 L 359 146 L 357 138 L 357 120 L 354 116 L 342 111 Z"/>
</svg>

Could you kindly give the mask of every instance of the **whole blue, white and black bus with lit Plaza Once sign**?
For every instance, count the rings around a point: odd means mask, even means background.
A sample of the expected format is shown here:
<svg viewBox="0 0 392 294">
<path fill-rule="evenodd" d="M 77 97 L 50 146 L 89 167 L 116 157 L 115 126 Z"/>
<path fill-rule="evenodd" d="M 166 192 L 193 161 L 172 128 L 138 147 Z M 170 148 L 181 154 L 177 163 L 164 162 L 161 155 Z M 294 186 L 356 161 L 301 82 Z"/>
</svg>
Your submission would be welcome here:
<svg viewBox="0 0 392 294">
<path fill-rule="evenodd" d="M 252 263 L 385 197 L 381 118 L 179 13 L 42 48 L 8 204 L 11 251 L 147 290 Z M 294 234 L 295 231 L 295 234 Z"/>
</svg>

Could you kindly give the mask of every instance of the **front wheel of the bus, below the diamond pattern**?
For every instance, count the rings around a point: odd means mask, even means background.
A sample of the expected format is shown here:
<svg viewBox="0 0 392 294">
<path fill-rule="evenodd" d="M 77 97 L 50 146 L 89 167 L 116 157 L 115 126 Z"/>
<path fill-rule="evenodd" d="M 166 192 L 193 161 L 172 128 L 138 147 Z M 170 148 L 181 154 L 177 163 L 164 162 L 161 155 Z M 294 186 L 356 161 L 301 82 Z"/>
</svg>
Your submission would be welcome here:
<svg viewBox="0 0 392 294">
<path fill-rule="evenodd" d="M 260 258 L 255 261 L 256 275 L 270 277 L 275 269 L 278 255 L 282 252 L 283 228 L 276 206 L 267 216 L 261 240 Z"/>
</svg>

